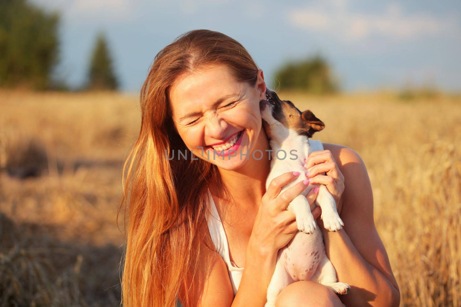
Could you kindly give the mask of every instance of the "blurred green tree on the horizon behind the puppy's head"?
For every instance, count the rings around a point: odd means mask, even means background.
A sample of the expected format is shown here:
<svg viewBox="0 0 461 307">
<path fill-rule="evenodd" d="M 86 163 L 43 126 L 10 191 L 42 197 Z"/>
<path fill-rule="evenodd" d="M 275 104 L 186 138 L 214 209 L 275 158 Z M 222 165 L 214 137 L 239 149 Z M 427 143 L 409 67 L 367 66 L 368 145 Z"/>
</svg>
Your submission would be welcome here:
<svg viewBox="0 0 461 307">
<path fill-rule="evenodd" d="M 282 89 L 296 89 L 315 94 L 335 93 L 339 85 L 330 65 L 320 55 L 285 63 L 275 73 Z"/>
</svg>

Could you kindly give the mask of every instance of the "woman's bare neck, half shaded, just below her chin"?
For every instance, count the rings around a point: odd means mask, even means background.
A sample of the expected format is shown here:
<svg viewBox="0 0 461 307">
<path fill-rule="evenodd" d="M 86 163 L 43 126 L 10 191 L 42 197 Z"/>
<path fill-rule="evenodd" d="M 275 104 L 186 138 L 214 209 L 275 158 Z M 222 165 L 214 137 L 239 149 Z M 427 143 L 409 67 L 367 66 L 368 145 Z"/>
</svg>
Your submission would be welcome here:
<svg viewBox="0 0 461 307">
<path fill-rule="evenodd" d="M 262 151 L 260 160 L 254 159 L 253 153 L 250 152 L 247 162 L 241 168 L 236 170 L 219 168 L 222 182 L 238 207 L 251 206 L 256 209 L 260 205 L 262 196 L 266 193 L 266 179 L 271 169 L 271 161 L 269 160 L 269 152 L 266 151 L 270 149 L 270 145 L 263 128 L 261 128 L 253 152 L 258 149 Z M 258 151 L 254 156 L 260 158 L 261 153 Z M 244 156 L 242 159 L 246 158 Z M 219 194 L 216 193 L 215 195 Z"/>
</svg>

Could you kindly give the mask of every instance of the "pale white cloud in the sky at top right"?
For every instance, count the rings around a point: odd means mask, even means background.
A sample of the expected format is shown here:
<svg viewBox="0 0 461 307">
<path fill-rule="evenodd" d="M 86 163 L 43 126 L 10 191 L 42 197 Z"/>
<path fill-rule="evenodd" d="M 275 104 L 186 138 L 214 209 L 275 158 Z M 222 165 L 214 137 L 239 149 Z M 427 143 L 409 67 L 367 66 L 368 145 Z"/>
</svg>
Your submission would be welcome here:
<svg viewBox="0 0 461 307">
<path fill-rule="evenodd" d="M 461 32 L 459 20 L 454 16 L 404 13 L 397 3 L 389 4 L 384 12 L 363 13 L 352 12 L 346 0 L 330 0 L 320 6 L 292 9 L 286 17 L 297 28 L 354 41 L 366 39 L 370 35 L 405 39 Z"/>
</svg>

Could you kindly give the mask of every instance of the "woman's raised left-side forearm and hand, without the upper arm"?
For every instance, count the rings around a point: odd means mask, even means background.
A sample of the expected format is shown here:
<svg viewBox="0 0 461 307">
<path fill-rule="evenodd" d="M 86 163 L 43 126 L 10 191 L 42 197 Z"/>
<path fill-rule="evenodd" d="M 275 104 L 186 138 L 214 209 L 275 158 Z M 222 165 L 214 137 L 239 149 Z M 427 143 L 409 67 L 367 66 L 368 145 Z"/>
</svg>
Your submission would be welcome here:
<svg viewBox="0 0 461 307">
<path fill-rule="evenodd" d="M 266 304 L 267 288 L 275 270 L 278 250 L 298 232 L 296 215 L 285 208 L 306 189 L 308 182 L 300 181 L 276 196 L 284 185 L 299 175 L 299 172 L 282 174 L 274 178 L 267 188 L 253 225 L 247 246 L 245 269 L 232 307 L 263 307 Z M 309 205 L 313 204 L 316 197 L 317 193 L 311 189 L 306 195 Z M 314 219 L 317 218 L 320 209 L 313 209 L 312 215 Z"/>
</svg>

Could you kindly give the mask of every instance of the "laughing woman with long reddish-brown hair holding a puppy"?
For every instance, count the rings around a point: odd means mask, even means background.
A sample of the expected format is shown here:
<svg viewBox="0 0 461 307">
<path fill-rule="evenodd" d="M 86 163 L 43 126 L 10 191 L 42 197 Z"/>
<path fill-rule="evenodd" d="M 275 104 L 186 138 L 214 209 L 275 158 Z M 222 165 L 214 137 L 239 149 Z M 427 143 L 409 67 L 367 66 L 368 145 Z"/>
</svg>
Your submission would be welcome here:
<svg viewBox="0 0 461 307">
<path fill-rule="evenodd" d="M 266 191 L 270 148 L 259 110 L 265 93 L 263 72 L 247 50 L 219 32 L 187 32 L 155 57 L 141 90 L 141 131 L 124 166 L 124 306 L 174 306 L 177 298 L 187 307 L 264 306 L 277 251 L 297 231 L 294 214 L 277 208 L 306 186 L 278 193 L 306 175 L 335 197 L 344 229 L 326 232 L 318 223 L 338 280 L 351 291 L 340 299 L 321 284 L 299 281 L 278 295 L 277 306 L 399 305 L 373 222 L 370 181 L 355 151 L 325 143 L 306 157 L 310 174 L 283 174 Z M 248 155 L 213 157 L 236 136 L 238 152 Z M 251 155 L 258 149 L 262 159 Z M 312 189 L 310 204 L 315 196 Z M 213 232 L 213 209 L 225 232 Z M 219 235 L 229 258 L 216 252 Z"/>
</svg>

